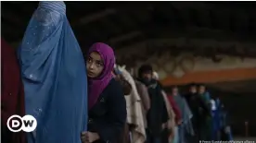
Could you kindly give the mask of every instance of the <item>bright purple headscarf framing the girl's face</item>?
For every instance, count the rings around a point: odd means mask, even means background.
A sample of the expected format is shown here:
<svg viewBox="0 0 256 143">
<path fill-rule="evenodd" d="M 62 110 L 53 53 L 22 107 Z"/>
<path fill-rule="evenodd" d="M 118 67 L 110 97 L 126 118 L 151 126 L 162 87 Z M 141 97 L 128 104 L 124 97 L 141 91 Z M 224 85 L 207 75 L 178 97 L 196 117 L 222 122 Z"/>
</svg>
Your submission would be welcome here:
<svg viewBox="0 0 256 143">
<path fill-rule="evenodd" d="M 96 42 L 95 44 L 93 44 L 92 47 L 89 49 L 87 56 L 89 56 L 93 52 L 96 52 L 100 55 L 101 59 L 103 60 L 104 68 L 99 77 L 96 77 L 96 78 L 88 77 L 89 109 L 91 109 L 96 104 L 96 101 L 99 95 L 101 94 L 101 92 L 109 85 L 109 81 L 113 77 L 112 70 L 116 62 L 115 54 L 112 48 L 106 43 Z"/>
</svg>

